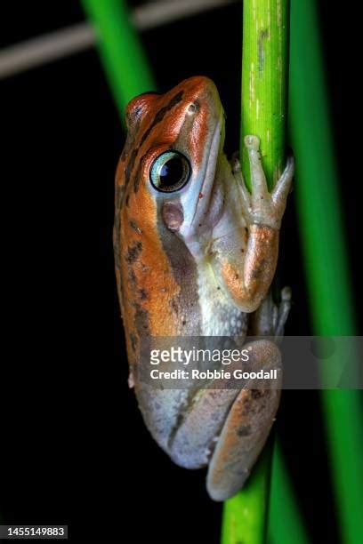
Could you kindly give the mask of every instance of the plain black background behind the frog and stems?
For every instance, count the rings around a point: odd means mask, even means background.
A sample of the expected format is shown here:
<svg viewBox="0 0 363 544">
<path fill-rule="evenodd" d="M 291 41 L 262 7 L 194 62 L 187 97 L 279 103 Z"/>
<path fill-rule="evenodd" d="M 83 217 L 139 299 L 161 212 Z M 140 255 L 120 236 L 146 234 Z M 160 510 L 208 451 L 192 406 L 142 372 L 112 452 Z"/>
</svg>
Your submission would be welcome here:
<svg viewBox="0 0 363 544">
<path fill-rule="evenodd" d="M 76 1 L 7 4 L 2 46 L 84 19 Z M 351 12 L 318 4 L 359 309 L 359 28 Z M 160 90 L 214 79 L 228 153 L 238 147 L 240 21 L 236 4 L 142 34 Z M 217 543 L 222 508 L 206 496 L 205 472 L 158 449 L 127 388 L 111 246 L 125 134 L 97 53 L 5 80 L 1 97 L 3 523 L 69 524 L 72 540 Z M 294 195 L 282 238 L 279 277 L 294 292 L 286 332 L 310 334 Z M 286 391 L 276 427 L 313 541 L 334 544 L 319 395 Z"/>
</svg>

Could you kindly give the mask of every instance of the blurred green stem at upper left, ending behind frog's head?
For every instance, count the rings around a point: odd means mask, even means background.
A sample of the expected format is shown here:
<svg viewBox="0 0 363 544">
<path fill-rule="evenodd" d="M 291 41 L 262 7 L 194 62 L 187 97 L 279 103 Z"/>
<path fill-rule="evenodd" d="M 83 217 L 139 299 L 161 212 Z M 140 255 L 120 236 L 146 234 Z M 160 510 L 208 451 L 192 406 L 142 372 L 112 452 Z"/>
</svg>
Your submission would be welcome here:
<svg viewBox="0 0 363 544">
<path fill-rule="evenodd" d="M 129 100 L 156 85 L 124 0 L 82 0 L 121 119 Z"/>
</svg>

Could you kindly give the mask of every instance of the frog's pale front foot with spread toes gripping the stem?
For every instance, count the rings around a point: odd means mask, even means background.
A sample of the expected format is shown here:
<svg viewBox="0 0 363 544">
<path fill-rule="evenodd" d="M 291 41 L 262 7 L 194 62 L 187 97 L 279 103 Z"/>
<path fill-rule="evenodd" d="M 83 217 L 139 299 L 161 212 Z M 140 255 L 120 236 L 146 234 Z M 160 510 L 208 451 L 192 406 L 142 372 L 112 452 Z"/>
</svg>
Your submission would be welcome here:
<svg viewBox="0 0 363 544">
<path fill-rule="evenodd" d="M 245 146 L 251 170 L 252 193 L 249 193 L 246 188 L 238 164 L 235 163 L 233 166 L 233 172 L 238 177 L 241 189 L 244 216 L 249 225 L 266 225 L 278 230 L 285 212 L 286 198 L 294 176 L 294 158 L 290 156 L 287 159 L 285 171 L 272 191 L 269 192 L 261 164 L 259 138 L 257 136 L 246 136 Z"/>
</svg>

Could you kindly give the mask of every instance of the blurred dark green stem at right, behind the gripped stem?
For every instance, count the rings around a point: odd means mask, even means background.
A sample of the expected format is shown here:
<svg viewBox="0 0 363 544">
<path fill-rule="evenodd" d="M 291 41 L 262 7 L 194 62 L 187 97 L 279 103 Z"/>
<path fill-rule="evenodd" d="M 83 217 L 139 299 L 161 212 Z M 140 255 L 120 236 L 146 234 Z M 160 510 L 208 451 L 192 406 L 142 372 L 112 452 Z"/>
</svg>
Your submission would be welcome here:
<svg viewBox="0 0 363 544">
<path fill-rule="evenodd" d="M 290 132 L 314 331 L 355 333 L 351 282 L 316 4 L 292 0 Z M 346 190 L 353 190 L 347 183 Z M 343 541 L 363 541 L 363 424 L 359 391 L 322 391 Z"/>
</svg>

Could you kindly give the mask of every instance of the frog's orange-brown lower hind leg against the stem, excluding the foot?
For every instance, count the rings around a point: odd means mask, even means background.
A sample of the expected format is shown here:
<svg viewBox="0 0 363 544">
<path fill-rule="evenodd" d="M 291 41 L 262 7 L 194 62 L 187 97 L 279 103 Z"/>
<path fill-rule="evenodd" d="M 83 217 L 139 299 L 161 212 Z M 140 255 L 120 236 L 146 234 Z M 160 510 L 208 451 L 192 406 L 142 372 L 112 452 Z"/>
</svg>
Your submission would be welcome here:
<svg viewBox="0 0 363 544">
<path fill-rule="evenodd" d="M 256 340 L 250 346 L 255 368 L 280 367 L 280 353 L 274 342 Z M 259 388 L 251 388 L 250 383 L 231 405 L 208 468 L 206 488 L 213 500 L 229 499 L 245 484 L 278 410 L 280 372 L 278 376 L 266 388 L 261 388 L 261 382 L 254 386 Z"/>
</svg>

